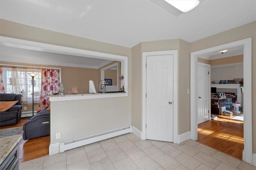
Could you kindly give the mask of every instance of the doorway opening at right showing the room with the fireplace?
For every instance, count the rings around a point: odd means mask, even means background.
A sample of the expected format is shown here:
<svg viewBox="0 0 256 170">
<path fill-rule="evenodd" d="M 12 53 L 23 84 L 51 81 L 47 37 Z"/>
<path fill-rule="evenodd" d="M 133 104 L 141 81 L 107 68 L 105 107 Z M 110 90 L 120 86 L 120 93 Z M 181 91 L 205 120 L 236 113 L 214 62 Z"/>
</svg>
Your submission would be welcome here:
<svg viewBox="0 0 256 170">
<path fill-rule="evenodd" d="M 198 59 L 198 96 L 204 98 L 206 95 L 202 92 L 210 94 L 207 98 L 208 102 L 198 102 L 198 142 L 242 160 L 244 150 L 243 95 L 240 84 L 235 83 L 240 81 L 242 84 L 243 47 L 230 48 L 228 51 L 229 54 L 226 55 L 218 54 L 216 51 L 213 55 L 208 54 L 210 57 L 207 60 Z M 204 73 L 200 65 L 211 66 L 209 74 L 208 70 Z M 202 74 L 209 77 L 210 81 L 203 83 L 207 78 L 202 77 Z M 238 77 L 241 80 L 238 81 Z M 225 84 L 220 84 L 223 82 Z M 239 111 L 232 108 L 232 103 L 236 101 L 239 102 L 237 105 L 241 106 Z M 206 107 L 209 108 L 209 114 L 204 109 Z M 199 114 L 200 111 L 201 114 Z"/>
</svg>

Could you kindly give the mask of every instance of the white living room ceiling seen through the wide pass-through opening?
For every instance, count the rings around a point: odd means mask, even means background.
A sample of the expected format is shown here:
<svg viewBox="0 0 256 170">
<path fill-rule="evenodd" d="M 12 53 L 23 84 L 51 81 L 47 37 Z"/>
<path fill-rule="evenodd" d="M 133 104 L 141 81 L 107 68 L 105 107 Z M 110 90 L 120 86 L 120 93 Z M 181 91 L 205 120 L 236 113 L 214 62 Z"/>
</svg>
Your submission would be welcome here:
<svg viewBox="0 0 256 170">
<path fill-rule="evenodd" d="M 0 46 L 0 61 L 98 69 L 112 60 Z"/>
</svg>

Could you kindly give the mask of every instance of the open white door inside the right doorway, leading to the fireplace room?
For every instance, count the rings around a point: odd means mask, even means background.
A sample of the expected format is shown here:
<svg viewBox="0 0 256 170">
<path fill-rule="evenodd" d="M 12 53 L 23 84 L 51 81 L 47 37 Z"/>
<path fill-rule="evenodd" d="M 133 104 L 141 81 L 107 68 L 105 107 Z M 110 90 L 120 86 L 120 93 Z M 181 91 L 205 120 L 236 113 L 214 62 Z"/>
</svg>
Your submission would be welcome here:
<svg viewBox="0 0 256 170">
<path fill-rule="evenodd" d="M 210 118 L 209 72 L 210 65 L 198 63 L 198 124 Z"/>
</svg>

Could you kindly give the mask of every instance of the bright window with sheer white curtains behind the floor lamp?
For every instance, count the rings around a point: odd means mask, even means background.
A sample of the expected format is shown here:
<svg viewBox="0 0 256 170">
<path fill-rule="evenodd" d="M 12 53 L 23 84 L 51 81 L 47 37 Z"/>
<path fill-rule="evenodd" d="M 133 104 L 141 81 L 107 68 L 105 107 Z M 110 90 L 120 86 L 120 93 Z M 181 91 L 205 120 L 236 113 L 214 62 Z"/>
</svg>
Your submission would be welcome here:
<svg viewBox="0 0 256 170">
<path fill-rule="evenodd" d="M 5 93 L 20 94 L 22 92 L 23 102 L 32 104 L 32 77 L 28 73 L 37 73 L 34 77 L 34 102 L 39 102 L 41 91 L 41 69 L 40 68 L 9 68 L 3 67 L 3 83 Z"/>
</svg>

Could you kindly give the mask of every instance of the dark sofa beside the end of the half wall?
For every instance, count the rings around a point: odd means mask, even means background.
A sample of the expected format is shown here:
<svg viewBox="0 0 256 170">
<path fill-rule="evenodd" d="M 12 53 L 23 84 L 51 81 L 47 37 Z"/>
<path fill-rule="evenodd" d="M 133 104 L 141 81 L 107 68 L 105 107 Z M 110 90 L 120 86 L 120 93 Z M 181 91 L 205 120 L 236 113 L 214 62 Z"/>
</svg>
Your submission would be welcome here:
<svg viewBox="0 0 256 170">
<path fill-rule="evenodd" d="M 50 135 L 50 110 L 43 108 L 23 125 L 23 139 L 33 139 Z"/>
</svg>

